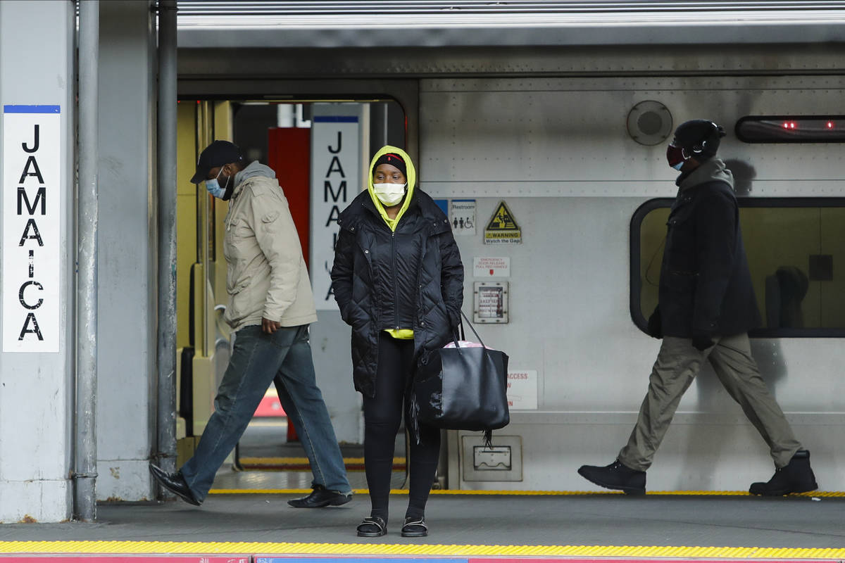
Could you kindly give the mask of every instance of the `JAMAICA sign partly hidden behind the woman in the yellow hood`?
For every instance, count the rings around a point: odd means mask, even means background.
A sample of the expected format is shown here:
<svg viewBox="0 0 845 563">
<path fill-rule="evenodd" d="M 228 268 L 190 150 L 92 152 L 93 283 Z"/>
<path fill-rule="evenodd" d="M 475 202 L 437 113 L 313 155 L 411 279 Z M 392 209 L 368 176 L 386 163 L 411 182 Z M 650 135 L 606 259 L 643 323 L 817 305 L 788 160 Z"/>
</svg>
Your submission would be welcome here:
<svg viewBox="0 0 845 563">
<path fill-rule="evenodd" d="M 318 109 L 314 107 L 315 114 Z M 337 311 L 330 273 L 335 261 L 337 219 L 361 191 L 359 127 L 358 116 L 312 118 L 310 273 L 314 304 L 321 311 Z"/>
</svg>

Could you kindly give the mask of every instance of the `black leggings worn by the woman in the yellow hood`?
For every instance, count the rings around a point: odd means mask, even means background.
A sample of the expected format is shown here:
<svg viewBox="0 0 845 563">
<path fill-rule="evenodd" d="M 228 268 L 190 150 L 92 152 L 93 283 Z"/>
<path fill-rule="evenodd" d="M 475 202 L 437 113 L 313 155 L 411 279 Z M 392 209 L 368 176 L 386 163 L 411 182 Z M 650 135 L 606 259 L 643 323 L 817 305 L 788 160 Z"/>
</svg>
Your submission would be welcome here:
<svg viewBox="0 0 845 563">
<path fill-rule="evenodd" d="M 373 516 L 387 521 L 390 497 L 390 474 L 393 471 L 393 452 L 396 432 L 402 413 L 408 426 L 410 417 L 405 406 L 406 387 L 410 383 L 414 356 L 414 341 L 399 340 L 382 331 L 379 333 L 379 370 L 375 377 L 375 396 L 364 396 L 364 468 Z M 403 406 L 405 408 L 403 409 Z M 411 440 L 411 490 L 406 516 L 421 517 L 428 501 L 428 492 L 437 473 L 440 454 L 440 430 L 420 425 L 420 443 Z"/>
</svg>

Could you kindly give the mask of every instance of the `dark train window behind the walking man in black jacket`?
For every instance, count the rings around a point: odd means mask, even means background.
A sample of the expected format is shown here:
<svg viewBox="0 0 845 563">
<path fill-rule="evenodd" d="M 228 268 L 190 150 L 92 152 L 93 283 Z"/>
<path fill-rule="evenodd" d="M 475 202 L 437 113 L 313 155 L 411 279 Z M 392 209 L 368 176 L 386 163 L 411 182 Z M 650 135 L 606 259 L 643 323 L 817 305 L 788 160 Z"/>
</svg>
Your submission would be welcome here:
<svg viewBox="0 0 845 563">
<path fill-rule="evenodd" d="M 672 198 L 637 209 L 630 233 L 630 311 L 644 332 L 657 306 Z M 845 198 L 739 198 L 762 327 L 752 337 L 845 336 Z"/>
</svg>

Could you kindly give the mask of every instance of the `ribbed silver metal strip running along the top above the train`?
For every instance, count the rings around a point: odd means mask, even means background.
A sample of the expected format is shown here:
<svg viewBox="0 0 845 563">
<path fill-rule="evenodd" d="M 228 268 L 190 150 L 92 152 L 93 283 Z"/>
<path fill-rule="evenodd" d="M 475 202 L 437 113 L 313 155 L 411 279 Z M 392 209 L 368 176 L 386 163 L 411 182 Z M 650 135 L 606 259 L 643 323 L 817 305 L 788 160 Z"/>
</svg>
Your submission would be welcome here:
<svg viewBox="0 0 845 563">
<path fill-rule="evenodd" d="M 179 3 L 180 46 L 396 47 L 841 41 L 845 4 Z"/>
</svg>

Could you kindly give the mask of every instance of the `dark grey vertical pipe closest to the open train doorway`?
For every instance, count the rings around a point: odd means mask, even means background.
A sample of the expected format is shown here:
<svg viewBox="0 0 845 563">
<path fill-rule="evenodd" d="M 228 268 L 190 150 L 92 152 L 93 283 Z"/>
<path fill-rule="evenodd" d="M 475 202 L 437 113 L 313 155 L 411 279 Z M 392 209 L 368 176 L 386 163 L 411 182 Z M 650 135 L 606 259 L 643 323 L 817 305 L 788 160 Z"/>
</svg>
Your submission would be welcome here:
<svg viewBox="0 0 845 563">
<path fill-rule="evenodd" d="M 176 469 L 176 0 L 158 24 L 158 430 L 157 462 Z"/>
</svg>

